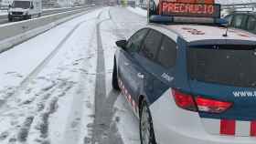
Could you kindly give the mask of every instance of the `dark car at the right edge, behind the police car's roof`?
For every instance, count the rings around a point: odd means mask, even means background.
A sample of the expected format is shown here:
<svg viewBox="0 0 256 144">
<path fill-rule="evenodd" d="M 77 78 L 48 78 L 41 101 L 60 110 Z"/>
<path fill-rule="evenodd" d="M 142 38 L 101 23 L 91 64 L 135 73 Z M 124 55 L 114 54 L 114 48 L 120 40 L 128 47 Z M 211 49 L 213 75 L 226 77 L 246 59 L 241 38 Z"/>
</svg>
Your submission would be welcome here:
<svg viewBox="0 0 256 144">
<path fill-rule="evenodd" d="M 256 34 L 256 13 L 255 12 L 234 12 L 226 15 L 230 27 L 239 28 Z"/>
</svg>

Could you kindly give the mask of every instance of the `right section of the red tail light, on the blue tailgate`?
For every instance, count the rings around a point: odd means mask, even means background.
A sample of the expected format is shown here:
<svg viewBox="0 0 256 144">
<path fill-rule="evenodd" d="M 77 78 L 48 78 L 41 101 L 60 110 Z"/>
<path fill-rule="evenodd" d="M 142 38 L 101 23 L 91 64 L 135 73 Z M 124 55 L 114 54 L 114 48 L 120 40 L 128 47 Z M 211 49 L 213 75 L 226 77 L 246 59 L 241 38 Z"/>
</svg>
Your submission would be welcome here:
<svg viewBox="0 0 256 144">
<path fill-rule="evenodd" d="M 208 98 L 196 98 L 197 108 L 199 111 L 210 113 L 221 113 L 232 106 L 230 102 L 224 102 Z"/>
</svg>

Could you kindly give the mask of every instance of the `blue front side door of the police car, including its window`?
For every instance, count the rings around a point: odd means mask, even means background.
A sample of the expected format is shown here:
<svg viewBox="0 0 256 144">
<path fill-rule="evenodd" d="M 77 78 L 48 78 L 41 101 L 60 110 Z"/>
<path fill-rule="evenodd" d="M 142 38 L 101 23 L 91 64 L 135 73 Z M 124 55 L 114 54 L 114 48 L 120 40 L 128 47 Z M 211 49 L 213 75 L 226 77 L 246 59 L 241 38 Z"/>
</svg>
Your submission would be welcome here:
<svg viewBox="0 0 256 144">
<path fill-rule="evenodd" d="M 138 90 L 142 86 L 143 70 L 138 66 L 137 60 L 134 58 L 147 35 L 149 29 L 144 28 L 136 32 L 128 40 L 125 50 L 121 50 L 118 59 L 119 77 L 123 83 L 123 93 L 131 104 L 137 101 Z"/>
</svg>

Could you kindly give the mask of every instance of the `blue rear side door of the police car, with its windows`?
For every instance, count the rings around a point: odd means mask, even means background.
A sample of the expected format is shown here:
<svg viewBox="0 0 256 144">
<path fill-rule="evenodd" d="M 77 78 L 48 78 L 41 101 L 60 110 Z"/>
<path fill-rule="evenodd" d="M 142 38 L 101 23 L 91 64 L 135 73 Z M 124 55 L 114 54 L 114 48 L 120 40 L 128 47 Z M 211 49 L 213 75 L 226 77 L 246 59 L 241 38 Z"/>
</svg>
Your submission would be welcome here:
<svg viewBox="0 0 256 144">
<path fill-rule="evenodd" d="M 146 76 L 144 94 L 150 103 L 154 103 L 170 87 L 174 80 L 173 74 L 176 65 L 176 41 L 159 32 L 156 32 L 156 36 L 158 38 L 154 40 L 145 39 L 140 52 L 142 57 L 139 58 L 141 59 L 139 63 L 144 67 Z M 148 54 L 148 51 L 151 51 L 152 55 Z"/>
</svg>

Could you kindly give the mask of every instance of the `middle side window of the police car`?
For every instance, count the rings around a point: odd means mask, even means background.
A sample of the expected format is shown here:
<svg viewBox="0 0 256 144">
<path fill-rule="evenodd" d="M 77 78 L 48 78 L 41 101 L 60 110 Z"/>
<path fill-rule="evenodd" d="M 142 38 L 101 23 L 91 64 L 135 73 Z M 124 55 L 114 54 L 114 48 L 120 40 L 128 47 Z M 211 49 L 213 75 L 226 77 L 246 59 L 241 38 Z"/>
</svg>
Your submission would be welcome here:
<svg viewBox="0 0 256 144">
<path fill-rule="evenodd" d="M 144 57 L 154 60 L 156 57 L 157 49 L 161 43 L 161 39 L 161 33 L 155 30 L 150 30 L 148 35 L 144 39 L 144 45 L 142 46 L 141 54 Z"/>
</svg>

